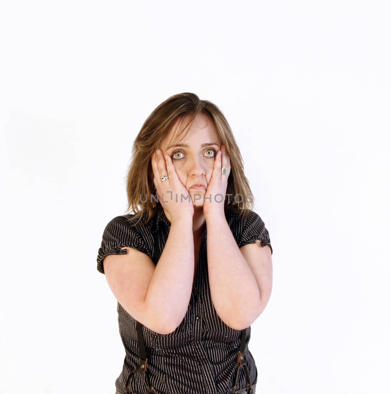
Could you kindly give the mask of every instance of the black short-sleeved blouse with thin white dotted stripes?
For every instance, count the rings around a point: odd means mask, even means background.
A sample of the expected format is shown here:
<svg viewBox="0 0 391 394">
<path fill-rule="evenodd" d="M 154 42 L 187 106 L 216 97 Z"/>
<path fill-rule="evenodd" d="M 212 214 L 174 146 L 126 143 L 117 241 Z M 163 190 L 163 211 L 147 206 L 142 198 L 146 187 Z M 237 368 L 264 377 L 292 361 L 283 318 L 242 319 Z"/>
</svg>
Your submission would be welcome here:
<svg viewBox="0 0 391 394">
<path fill-rule="evenodd" d="M 126 254 L 124 246 L 146 253 L 151 260 L 154 253 L 153 232 L 159 232 L 159 248 L 162 252 L 170 232 L 162 206 L 158 203 L 153 219 L 145 225 L 129 227 L 127 219 L 133 214 L 114 217 L 103 232 L 98 251 L 98 271 L 104 273 L 103 258 L 110 254 Z M 262 219 L 251 211 L 250 216 L 239 219 L 238 215 L 226 212 L 225 217 L 238 244 L 260 240 L 262 246 L 270 245 L 269 232 Z M 143 216 L 144 219 L 144 216 Z M 140 222 L 142 223 L 142 222 Z M 273 249 L 271 250 L 273 253 Z M 117 304 L 118 325 L 125 359 L 122 372 L 115 381 L 116 390 L 125 393 L 125 381 L 129 373 L 139 368 L 136 320 Z M 207 228 L 205 226 L 200 247 L 198 266 L 190 303 L 183 321 L 170 334 L 159 334 L 142 326 L 149 383 L 156 394 L 228 394 L 233 385 L 236 370 L 240 334 L 242 331 L 227 326 L 218 316 L 210 295 L 207 265 Z M 248 348 L 251 326 L 247 327 L 245 359 L 251 384 L 257 381 L 257 368 Z M 139 372 L 131 374 L 129 382 L 132 393 L 145 393 L 145 376 Z M 244 368 L 240 368 L 237 390 L 247 386 Z"/>
</svg>

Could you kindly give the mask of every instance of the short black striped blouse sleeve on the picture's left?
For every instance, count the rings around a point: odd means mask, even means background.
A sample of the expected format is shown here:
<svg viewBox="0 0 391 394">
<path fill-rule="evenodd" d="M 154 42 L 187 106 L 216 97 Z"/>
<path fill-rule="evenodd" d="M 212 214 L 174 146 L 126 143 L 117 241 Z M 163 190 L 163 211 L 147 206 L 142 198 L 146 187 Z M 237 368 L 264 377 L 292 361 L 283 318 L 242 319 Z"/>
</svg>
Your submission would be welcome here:
<svg viewBox="0 0 391 394">
<path fill-rule="evenodd" d="M 129 219 L 126 216 L 117 216 L 109 221 L 103 231 L 101 247 L 96 258 L 97 269 L 100 273 L 105 273 L 103 258 L 107 255 L 126 255 L 127 249 L 121 249 L 124 246 L 133 247 L 152 258 L 149 247 L 139 229 L 140 226 L 130 227 Z"/>
</svg>

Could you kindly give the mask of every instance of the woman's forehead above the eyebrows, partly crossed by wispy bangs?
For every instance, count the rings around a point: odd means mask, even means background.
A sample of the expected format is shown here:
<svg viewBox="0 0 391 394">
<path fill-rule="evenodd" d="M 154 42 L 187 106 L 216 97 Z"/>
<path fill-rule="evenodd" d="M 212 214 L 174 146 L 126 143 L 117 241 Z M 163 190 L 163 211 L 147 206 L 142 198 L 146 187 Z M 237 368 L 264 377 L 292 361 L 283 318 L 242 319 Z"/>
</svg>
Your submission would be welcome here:
<svg viewBox="0 0 391 394">
<path fill-rule="evenodd" d="M 170 132 L 164 138 L 162 146 L 166 149 L 174 143 L 188 143 L 191 146 L 202 145 L 205 142 L 216 142 L 220 145 L 219 135 L 213 121 L 205 114 L 197 115 L 186 135 L 181 134 L 188 119 L 177 119 L 170 128 Z M 179 136 L 181 134 L 181 136 Z"/>
</svg>

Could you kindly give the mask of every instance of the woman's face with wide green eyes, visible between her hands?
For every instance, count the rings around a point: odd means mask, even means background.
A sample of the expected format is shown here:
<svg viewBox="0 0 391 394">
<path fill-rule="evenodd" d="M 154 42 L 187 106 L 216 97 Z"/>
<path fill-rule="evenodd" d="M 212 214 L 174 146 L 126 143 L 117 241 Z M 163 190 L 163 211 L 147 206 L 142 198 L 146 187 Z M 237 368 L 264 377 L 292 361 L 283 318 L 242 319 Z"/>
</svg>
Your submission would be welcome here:
<svg viewBox="0 0 391 394">
<path fill-rule="evenodd" d="M 161 149 L 168 154 L 175 166 L 179 180 L 183 183 L 192 198 L 194 207 L 202 207 L 206 188 L 212 177 L 213 164 L 216 152 L 220 149 L 221 141 L 213 122 L 207 115 L 198 115 L 192 127 L 181 140 L 175 137 L 170 143 L 177 120 L 170 133 L 164 139 Z M 208 124 L 207 124 L 208 123 Z M 168 146 L 170 145 L 170 146 Z M 192 188 L 195 183 L 205 185 L 205 188 Z M 194 195 L 198 194 L 201 198 Z M 198 198 L 198 199 L 197 199 Z"/>
</svg>

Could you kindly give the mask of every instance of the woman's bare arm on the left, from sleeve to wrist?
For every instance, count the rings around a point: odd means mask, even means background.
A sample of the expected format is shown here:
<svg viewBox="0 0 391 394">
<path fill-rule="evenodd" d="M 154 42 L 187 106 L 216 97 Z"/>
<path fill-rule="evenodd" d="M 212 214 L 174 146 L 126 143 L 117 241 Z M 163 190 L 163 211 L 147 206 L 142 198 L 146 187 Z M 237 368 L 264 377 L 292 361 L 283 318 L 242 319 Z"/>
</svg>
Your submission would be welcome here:
<svg viewBox="0 0 391 394">
<path fill-rule="evenodd" d="M 140 250 L 125 246 L 124 255 L 103 260 L 107 282 L 122 307 L 152 331 L 169 334 L 186 314 L 194 276 L 192 217 L 173 219 L 155 266 Z"/>
</svg>

